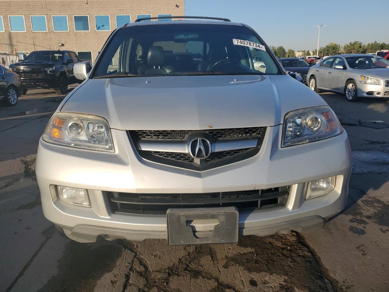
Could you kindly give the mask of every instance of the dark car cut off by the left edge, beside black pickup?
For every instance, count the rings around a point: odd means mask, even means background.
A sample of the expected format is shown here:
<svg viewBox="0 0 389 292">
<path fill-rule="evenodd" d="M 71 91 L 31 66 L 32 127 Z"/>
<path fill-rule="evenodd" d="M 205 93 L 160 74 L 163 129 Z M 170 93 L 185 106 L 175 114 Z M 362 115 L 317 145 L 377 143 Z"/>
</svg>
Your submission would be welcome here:
<svg viewBox="0 0 389 292">
<path fill-rule="evenodd" d="M 23 86 L 19 75 L 0 66 L 0 100 L 6 106 L 16 106 L 22 91 Z"/>
</svg>

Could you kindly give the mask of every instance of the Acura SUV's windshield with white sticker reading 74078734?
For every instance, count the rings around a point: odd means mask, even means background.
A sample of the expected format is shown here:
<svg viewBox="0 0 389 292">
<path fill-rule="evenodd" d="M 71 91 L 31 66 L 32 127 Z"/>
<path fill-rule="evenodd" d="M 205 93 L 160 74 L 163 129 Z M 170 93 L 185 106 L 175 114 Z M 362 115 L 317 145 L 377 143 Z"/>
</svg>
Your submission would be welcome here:
<svg viewBox="0 0 389 292">
<path fill-rule="evenodd" d="M 117 31 L 93 78 L 281 74 L 265 46 L 244 26 L 138 25 Z"/>
</svg>

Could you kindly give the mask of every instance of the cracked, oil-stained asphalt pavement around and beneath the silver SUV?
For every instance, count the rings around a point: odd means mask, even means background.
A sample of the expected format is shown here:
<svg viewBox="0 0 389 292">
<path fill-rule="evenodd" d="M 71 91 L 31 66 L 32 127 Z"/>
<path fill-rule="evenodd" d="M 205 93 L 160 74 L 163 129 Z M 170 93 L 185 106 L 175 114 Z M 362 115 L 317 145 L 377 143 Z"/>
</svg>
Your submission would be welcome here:
<svg viewBox="0 0 389 292">
<path fill-rule="evenodd" d="M 308 234 L 240 237 L 237 245 L 166 240 L 81 244 L 44 218 L 38 141 L 64 96 L 30 90 L 0 107 L 0 291 L 388 291 L 389 99 L 322 93 L 349 134 L 347 207 Z"/>
</svg>

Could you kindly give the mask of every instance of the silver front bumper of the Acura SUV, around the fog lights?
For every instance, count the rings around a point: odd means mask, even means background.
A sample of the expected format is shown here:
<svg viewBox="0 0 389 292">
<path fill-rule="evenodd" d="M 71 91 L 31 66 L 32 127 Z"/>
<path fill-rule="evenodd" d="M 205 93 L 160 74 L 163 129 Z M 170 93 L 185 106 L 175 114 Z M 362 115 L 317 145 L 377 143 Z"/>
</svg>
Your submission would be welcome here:
<svg viewBox="0 0 389 292">
<path fill-rule="evenodd" d="M 351 172 L 347 134 L 280 148 L 282 125 L 268 127 L 254 157 L 203 172 L 159 165 L 140 158 L 126 131 L 112 129 L 115 153 L 79 150 L 40 139 L 36 174 L 48 220 L 80 242 L 107 239 L 166 238 L 166 215 L 112 213 L 105 192 L 205 193 L 289 185 L 285 206 L 239 214 L 241 235 L 270 235 L 324 226 L 346 205 Z M 305 183 L 336 176 L 335 189 L 305 200 Z M 92 208 L 52 199 L 53 185 L 86 188 Z"/>
</svg>

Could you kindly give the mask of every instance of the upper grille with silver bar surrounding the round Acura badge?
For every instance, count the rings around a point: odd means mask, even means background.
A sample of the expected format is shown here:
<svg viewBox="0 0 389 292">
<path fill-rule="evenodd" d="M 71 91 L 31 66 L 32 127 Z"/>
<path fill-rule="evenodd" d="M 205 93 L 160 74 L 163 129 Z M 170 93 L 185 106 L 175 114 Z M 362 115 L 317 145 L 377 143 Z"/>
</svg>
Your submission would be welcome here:
<svg viewBox="0 0 389 292">
<path fill-rule="evenodd" d="M 140 157 L 180 168 L 204 171 L 238 162 L 256 155 L 265 127 L 207 130 L 129 130 L 128 134 Z M 191 141 L 207 139 L 212 151 L 205 158 L 189 155 Z M 189 148 L 188 148 L 189 147 Z"/>
</svg>

